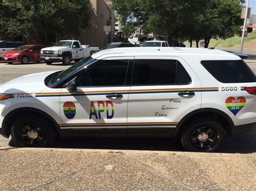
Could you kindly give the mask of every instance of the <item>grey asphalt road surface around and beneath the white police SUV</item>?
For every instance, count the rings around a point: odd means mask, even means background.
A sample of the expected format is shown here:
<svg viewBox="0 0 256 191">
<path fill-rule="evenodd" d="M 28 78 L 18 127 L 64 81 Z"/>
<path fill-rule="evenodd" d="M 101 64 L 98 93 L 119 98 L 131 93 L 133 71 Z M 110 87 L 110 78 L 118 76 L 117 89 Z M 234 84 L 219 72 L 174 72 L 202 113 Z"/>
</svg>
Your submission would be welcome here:
<svg viewBox="0 0 256 191">
<path fill-rule="evenodd" d="M 256 74 L 256 60 L 246 60 Z M 48 70 L 62 70 L 69 66 L 60 63 L 46 65 L 45 63 L 29 63 L 29 65 L 8 65 L 0 63 L 0 84 L 18 76 L 44 72 Z M 256 131 L 251 131 L 235 137 L 227 137 L 218 152 L 225 153 L 253 153 L 256 152 Z M 0 146 L 8 146 L 9 140 L 0 136 Z M 156 150 L 183 151 L 183 147 L 175 140 L 159 138 L 76 138 L 58 140 L 56 147 L 69 148 L 97 148 L 122 150 Z"/>
</svg>

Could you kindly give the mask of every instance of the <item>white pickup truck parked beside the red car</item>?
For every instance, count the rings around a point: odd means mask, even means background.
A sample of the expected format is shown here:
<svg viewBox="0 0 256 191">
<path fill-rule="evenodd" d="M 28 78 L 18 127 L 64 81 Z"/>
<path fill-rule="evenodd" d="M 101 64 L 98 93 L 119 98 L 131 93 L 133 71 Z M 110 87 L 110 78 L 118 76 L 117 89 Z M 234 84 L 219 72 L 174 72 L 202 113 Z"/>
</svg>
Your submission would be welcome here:
<svg viewBox="0 0 256 191">
<path fill-rule="evenodd" d="M 72 60 L 78 62 L 98 50 L 99 47 L 81 45 L 79 40 L 60 40 L 55 46 L 42 48 L 40 58 L 48 65 L 52 62 L 69 65 Z"/>
</svg>

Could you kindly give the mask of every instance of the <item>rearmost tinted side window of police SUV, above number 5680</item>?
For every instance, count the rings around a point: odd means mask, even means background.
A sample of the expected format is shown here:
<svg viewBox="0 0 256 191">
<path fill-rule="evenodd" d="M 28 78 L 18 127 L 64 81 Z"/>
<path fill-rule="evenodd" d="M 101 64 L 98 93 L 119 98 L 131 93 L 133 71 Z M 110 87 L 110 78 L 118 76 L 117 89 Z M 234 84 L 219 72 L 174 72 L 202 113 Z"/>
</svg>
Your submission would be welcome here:
<svg viewBox="0 0 256 191">
<path fill-rule="evenodd" d="M 201 64 L 222 83 L 255 82 L 255 75 L 243 60 L 205 60 Z"/>
</svg>

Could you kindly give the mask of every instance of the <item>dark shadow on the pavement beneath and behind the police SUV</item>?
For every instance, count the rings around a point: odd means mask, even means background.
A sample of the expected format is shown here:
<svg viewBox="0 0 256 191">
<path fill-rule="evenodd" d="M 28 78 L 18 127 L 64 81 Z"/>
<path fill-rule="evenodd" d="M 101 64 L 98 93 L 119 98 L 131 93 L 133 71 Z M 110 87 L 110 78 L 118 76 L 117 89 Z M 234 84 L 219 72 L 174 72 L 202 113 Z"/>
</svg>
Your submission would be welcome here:
<svg viewBox="0 0 256 191">
<path fill-rule="evenodd" d="M 246 136 L 247 137 L 247 136 Z M 226 137 L 216 152 L 253 153 L 256 152 L 255 138 L 247 144 L 244 136 Z M 67 138 L 56 143 L 57 148 L 91 148 L 110 150 L 146 150 L 146 151 L 185 151 L 175 139 L 170 138 Z"/>
</svg>

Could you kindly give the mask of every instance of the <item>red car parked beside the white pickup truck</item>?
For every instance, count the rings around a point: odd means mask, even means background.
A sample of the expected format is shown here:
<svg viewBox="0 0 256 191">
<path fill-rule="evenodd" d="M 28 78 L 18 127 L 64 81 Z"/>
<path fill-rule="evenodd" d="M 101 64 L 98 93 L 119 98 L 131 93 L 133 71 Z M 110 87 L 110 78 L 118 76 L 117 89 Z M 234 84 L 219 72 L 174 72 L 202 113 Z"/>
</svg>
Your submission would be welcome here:
<svg viewBox="0 0 256 191">
<path fill-rule="evenodd" d="M 2 55 L 4 62 L 14 63 L 29 63 L 29 62 L 40 62 L 40 51 L 46 46 L 43 45 L 23 45 Z"/>
</svg>

